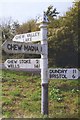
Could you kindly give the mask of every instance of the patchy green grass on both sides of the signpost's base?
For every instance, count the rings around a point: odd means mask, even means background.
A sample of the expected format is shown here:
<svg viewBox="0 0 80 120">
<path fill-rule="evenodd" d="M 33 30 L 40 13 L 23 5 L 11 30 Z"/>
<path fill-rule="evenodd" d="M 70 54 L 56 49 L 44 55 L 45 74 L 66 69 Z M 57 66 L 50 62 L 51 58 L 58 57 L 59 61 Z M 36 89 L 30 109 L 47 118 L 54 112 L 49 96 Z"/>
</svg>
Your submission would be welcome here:
<svg viewBox="0 0 80 120">
<path fill-rule="evenodd" d="M 3 118 L 45 117 L 41 115 L 40 76 L 3 70 L 0 82 L 2 83 L 0 103 L 2 103 Z M 79 80 L 49 80 L 48 118 L 79 117 L 79 85 Z"/>
</svg>

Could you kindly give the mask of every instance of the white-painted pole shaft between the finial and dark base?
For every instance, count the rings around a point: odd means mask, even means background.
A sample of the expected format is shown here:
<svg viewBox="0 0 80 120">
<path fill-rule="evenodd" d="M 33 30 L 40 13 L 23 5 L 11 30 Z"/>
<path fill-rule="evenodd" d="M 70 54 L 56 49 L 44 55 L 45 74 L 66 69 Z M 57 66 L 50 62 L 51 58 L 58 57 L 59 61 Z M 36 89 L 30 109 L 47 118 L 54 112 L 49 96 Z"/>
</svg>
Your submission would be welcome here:
<svg viewBox="0 0 80 120">
<path fill-rule="evenodd" d="M 43 19 L 42 19 L 43 20 Z M 42 21 L 44 22 L 44 21 Z M 41 54 L 41 83 L 48 83 L 48 43 L 47 43 L 47 24 L 40 24 L 41 45 L 44 46 L 44 54 Z M 45 37 L 44 37 L 45 35 Z"/>
</svg>

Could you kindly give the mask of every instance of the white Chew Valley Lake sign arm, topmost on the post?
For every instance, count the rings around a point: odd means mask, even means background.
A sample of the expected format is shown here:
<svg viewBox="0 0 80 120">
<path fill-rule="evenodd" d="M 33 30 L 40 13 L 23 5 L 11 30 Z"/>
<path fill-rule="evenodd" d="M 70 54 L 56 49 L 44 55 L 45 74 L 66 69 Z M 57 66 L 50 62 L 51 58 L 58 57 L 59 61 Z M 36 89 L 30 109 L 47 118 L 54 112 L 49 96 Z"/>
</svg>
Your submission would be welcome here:
<svg viewBox="0 0 80 120">
<path fill-rule="evenodd" d="M 30 32 L 25 34 L 18 34 L 14 36 L 13 41 L 16 42 L 37 42 L 41 41 L 41 32 Z"/>
</svg>

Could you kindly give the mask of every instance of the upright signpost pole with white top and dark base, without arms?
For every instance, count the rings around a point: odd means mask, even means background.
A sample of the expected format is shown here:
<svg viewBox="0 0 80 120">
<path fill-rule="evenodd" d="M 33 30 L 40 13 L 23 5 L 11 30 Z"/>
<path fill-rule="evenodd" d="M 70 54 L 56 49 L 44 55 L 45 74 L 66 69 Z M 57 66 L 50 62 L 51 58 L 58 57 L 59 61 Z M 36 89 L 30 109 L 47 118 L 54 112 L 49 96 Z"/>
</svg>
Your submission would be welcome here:
<svg viewBox="0 0 80 120">
<path fill-rule="evenodd" d="M 41 31 L 41 45 L 43 45 L 44 54 L 41 54 L 41 113 L 48 115 L 48 43 L 47 43 L 47 23 L 48 18 L 45 12 L 37 23 L 40 24 L 39 28 Z"/>
</svg>

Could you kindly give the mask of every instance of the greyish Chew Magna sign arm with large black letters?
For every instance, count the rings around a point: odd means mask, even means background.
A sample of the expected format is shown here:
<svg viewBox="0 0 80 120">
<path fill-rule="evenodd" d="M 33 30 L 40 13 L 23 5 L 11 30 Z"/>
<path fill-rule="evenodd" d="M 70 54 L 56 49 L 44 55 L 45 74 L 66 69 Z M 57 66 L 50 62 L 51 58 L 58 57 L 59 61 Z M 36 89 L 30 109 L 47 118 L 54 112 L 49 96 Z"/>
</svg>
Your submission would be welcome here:
<svg viewBox="0 0 80 120">
<path fill-rule="evenodd" d="M 2 48 L 6 53 L 44 54 L 41 44 L 5 41 Z"/>
</svg>

